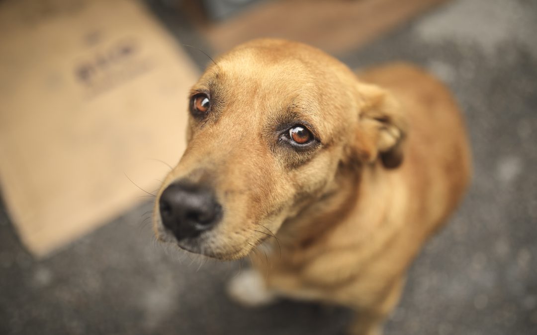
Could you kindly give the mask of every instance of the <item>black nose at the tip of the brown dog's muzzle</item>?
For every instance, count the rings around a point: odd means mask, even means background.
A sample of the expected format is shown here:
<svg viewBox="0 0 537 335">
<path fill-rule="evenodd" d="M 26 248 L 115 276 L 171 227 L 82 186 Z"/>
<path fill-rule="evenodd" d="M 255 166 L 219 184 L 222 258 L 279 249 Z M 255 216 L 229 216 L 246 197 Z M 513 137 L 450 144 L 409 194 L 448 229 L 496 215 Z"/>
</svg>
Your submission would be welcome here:
<svg viewBox="0 0 537 335">
<path fill-rule="evenodd" d="M 222 206 L 213 192 L 201 185 L 177 182 L 159 199 L 162 224 L 182 240 L 211 229 L 222 218 Z"/>
</svg>

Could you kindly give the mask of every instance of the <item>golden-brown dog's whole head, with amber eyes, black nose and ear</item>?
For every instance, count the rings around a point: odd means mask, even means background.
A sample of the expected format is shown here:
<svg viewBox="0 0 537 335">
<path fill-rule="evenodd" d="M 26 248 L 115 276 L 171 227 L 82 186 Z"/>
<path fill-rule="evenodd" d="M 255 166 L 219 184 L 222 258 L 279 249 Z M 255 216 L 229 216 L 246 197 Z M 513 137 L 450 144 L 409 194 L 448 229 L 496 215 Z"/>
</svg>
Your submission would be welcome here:
<svg viewBox="0 0 537 335">
<path fill-rule="evenodd" d="M 231 50 L 192 87 L 188 145 L 157 196 L 157 237 L 215 258 L 247 255 L 320 199 L 340 166 L 400 162 L 392 105 L 303 44 Z"/>
</svg>

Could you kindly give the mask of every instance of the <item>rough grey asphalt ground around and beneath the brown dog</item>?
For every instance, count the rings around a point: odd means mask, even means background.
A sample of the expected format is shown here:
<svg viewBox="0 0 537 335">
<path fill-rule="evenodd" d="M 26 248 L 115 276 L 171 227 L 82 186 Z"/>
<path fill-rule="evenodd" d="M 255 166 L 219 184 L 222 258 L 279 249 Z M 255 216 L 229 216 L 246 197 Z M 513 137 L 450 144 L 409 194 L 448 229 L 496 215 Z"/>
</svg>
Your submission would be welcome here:
<svg viewBox="0 0 537 335">
<path fill-rule="evenodd" d="M 195 37 L 184 26 L 172 28 Z M 473 146 L 468 196 L 412 265 L 386 334 L 537 334 L 535 33 L 535 1 L 455 0 L 339 55 L 353 68 L 402 59 L 436 73 L 458 98 Z M 0 333 L 297 335 L 344 329 L 349 313 L 340 308 L 292 301 L 238 307 L 224 284 L 245 262 L 200 266 L 164 249 L 142 224 L 150 206 L 40 262 L 0 213 Z"/>
</svg>

